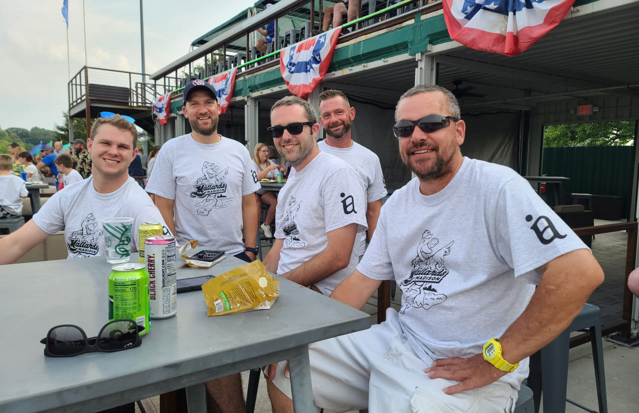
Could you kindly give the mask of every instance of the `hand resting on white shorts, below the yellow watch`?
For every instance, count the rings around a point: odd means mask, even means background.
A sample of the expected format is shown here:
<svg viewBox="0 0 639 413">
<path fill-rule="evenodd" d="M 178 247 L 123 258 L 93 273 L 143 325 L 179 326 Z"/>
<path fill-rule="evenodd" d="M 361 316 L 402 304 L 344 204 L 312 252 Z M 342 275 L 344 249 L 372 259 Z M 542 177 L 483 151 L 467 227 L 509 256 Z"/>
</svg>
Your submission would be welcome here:
<svg viewBox="0 0 639 413">
<path fill-rule="evenodd" d="M 430 378 L 448 378 L 459 382 L 443 389 L 446 394 L 484 387 L 507 374 L 484 360 L 482 354 L 475 354 L 468 359 L 453 357 L 437 360 L 433 366 L 424 370 L 424 373 L 428 373 Z"/>
</svg>

